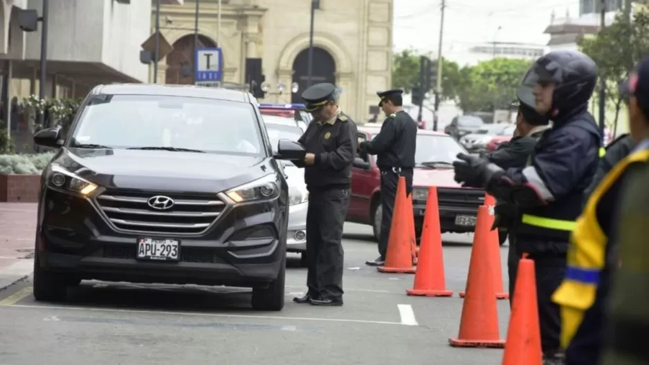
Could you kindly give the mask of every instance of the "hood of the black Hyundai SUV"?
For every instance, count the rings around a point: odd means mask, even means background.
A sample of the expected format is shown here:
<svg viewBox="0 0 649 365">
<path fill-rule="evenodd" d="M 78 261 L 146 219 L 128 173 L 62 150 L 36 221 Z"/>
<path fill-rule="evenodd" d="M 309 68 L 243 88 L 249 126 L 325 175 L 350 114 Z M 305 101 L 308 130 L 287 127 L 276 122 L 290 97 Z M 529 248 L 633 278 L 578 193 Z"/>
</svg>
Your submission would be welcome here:
<svg viewBox="0 0 649 365">
<path fill-rule="evenodd" d="M 276 171 L 258 156 L 125 149 L 62 149 L 54 162 L 107 188 L 219 192 Z"/>
</svg>

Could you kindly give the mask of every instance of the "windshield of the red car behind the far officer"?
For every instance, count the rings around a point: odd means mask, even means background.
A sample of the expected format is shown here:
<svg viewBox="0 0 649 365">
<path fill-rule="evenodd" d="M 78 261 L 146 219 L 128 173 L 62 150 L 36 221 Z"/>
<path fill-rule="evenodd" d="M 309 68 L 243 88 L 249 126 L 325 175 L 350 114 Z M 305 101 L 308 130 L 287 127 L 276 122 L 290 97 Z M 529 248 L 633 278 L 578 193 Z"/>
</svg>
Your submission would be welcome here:
<svg viewBox="0 0 649 365">
<path fill-rule="evenodd" d="M 376 135 L 372 135 L 374 137 Z M 457 153 L 468 152 L 450 135 L 417 134 L 416 165 L 451 165 L 457 160 Z"/>
</svg>

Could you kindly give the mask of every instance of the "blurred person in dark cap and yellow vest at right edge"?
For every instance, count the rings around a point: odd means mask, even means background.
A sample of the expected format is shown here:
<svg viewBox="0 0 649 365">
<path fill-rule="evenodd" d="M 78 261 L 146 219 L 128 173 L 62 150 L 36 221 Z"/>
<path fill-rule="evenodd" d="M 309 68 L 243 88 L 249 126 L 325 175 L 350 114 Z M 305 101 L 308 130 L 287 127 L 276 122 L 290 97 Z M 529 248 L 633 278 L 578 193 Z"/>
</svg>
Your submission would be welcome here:
<svg viewBox="0 0 649 365">
<path fill-rule="evenodd" d="M 644 59 L 636 71 L 631 73 L 626 84 L 625 94 L 629 97 L 629 129 L 636 142 L 649 137 L 649 57 Z M 605 302 L 610 292 L 612 272 L 619 266 L 617 237 L 622 244 L 637 242 L 646 246 L 646 234 L 636 236 L 642 230 L 646 232 L 647 200 L 640 196 L 621 198 L 625 185 L 644 183 L 638 176 L 646 176 L 649 167 L 649 141 L 644 141 L 632 153 L 604 176 L 589 196 L 583 214 L 572 234 L 572 243 L 568 254 L 568 273 L 565 281 L 554 294 L 554 301 L 559 303 L 563 313 L 562 342 L 567 347 L 566 362 L 568 365 L 599 364 L 603 345 Z M 634 194 L 637 191 L 634 191 Z M 621 205 L 620 205 L 621 200 Z M 621 208 L 619 208 L 621 207 Z M 622 209 L 618 217 L 617 209 Z M 623 252 L 625 248 L 622 248 Z M 637 263 L 648 256 L 644 247 L 633 250 L 633 255 L 622 259 L 622 268 L 630 265 L 630 270 L 646 270 L 637 267 Z M 630 253 L 630 252 L 625 252 Z M 623 271 L 622 278 L 637 276 Z M 645 292 L 646 287 L 630 288 L 631 291 Z M 623 296 L 632 297 L 631 293 L 621 292 Z M 616 303 L 616 301 L 614 301 Z M 639 301 L 635 306 L 646 306 L 646 301 Z M 615 307 L 614 307 L 615 308 Z M 621 321 L 614 322 L 614 343 L 622 348 L 641 339 L 647 333 L 638 333 L 637 327 L 628 313 L 616 313 Z M 628 316 L 625 318 L 626 316 Z M 643 344 L 646 346 L 646 344 Z M 646 353 L 644 348 L 641 352 Z M 628 353 L 630 357 L 634 357 Z M 648 362 L 645 362 L 645 364 Z M 621 361 L 618 364 L 626 364 Z"/>
</svg>

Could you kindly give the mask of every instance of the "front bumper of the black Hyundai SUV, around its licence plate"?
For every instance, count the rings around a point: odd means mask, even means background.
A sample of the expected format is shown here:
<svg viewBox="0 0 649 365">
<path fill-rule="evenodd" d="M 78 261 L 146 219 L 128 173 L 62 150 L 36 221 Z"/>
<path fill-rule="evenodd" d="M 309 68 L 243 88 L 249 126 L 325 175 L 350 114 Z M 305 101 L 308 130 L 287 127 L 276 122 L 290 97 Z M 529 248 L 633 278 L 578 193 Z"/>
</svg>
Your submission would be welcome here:
<svg viewBox="0 0 649 365">
<path fill-rule="evenodd" d="M 163 234 L 120 229 L 95 198 L 48 188 L 39 204 L 39 264 L 77 279 L 265 286 L 284 265 L 285 203 L 234 205 L 220 198 L 226 205 L 205 231 Z M 138 238 L 179 240 L 178 261 L 136 259 Z"/>
</svg>

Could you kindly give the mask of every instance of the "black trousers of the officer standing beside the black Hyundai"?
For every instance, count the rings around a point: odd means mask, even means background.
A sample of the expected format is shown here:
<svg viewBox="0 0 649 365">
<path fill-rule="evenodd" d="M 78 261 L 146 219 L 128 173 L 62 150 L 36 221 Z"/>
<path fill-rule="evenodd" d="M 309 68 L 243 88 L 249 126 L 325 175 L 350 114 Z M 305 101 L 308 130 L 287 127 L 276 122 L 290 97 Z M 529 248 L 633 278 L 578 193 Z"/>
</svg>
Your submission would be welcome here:
<svg viewBox="0 0 649 365">
<path fill-rule="evenodd" d="M 312 298 L 341 299 L 342 225 L 349 208 L 349 188 L 309 191 L 307 208 L 307 294 Z"/>
</svg>

